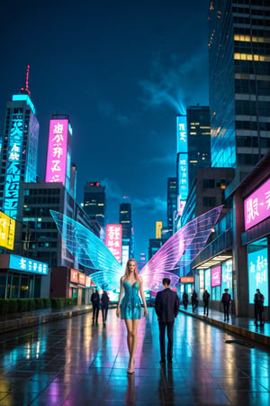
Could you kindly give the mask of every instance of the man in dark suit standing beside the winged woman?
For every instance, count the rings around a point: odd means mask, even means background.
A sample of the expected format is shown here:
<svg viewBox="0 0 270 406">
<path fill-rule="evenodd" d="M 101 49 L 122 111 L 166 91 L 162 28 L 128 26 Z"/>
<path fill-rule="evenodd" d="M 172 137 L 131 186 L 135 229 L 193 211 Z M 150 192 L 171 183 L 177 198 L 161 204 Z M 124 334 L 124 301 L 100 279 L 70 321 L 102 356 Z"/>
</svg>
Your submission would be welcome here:
<svg viewBox="0 0 270 406">
<path fill-rule="evenodd" d="M 159 326 L 160 363 L 172 362 L 175 317 L 178 314 L 180 300 L 175 291 L 169 289 L 170 280 L 164 278 L 163 291 L 157 292 L 155 310 Z M 165 331 L 167 335 L 167 350 L 165 355 Z"/>
</svg>

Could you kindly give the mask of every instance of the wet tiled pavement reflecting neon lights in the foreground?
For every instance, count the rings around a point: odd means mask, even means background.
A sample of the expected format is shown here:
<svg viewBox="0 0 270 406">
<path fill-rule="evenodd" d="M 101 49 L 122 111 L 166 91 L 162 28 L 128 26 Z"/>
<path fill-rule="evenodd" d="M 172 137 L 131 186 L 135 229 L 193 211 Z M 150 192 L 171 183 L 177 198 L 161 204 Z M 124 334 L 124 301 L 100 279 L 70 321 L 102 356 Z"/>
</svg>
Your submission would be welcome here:
<svg viewBox="0 0 270 406">
<path fill-rule="evenodd" d="M 234 340 L 236 339 L 236 340 Z M 226 342 L 228 341 L 228 342 Z M 0 336 L 0 405 L 270 404 L 270 352 L 180 313 L 173 364 L 160 366 L 154 309 L 139 323 L 135 374 L 127 375 L 122 320 L 92 314 Z"/>
</svg>

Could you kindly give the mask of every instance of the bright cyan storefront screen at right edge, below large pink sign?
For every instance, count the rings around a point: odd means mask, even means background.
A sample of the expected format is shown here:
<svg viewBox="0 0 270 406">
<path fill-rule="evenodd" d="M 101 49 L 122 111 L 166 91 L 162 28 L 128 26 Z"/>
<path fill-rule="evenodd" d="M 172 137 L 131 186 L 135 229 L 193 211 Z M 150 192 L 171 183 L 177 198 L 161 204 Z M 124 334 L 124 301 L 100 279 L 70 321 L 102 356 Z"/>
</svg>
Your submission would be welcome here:
<svg viewBox="0 0 270 406">
<path fill-rule="evenodd" d="M 247 245 L 249 303 L 254 303 L 254 295 L 259 289 L 265 296 L 268 306 L 268 260 L 267 242 L 262 238 Z"/>
</svg>

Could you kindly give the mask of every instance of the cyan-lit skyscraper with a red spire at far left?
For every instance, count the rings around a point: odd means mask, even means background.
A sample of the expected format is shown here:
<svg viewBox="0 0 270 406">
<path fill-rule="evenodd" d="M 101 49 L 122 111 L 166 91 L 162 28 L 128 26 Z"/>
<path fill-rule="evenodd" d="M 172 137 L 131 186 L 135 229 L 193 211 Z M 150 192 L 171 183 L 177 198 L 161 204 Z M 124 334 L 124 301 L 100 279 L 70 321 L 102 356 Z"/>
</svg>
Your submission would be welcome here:
<svg viewBox="0 0 270 406">
<path fill-rule="evenodd" d="M 20 185 L 23 181 L 35 182 L 39 122 L 28 88 L 29 66 L 25 87 L 7 102 L 4 136 L 0 153 L 0 208 L 16 218 Z"/>
</svg>

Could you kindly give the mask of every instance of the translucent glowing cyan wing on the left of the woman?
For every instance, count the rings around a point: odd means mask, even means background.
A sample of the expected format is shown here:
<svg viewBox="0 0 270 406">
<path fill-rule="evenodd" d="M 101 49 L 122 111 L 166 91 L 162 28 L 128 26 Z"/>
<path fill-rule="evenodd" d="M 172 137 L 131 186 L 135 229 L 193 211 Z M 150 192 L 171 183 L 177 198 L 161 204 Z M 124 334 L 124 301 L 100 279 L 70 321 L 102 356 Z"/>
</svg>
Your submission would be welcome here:
<svg viewBox="0 0 270 406">
<path fill-rule="evenodd" d="M 66 215 L 49 210 L 67 251 L 76 257 L 78 263 L 90 268 L 91 278 L 96 286 L 111 291 L 119 286 L 122 267 L 103 242 L 85 226 Z"/>
</svg>

